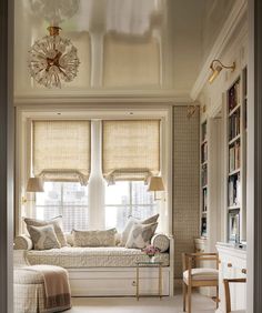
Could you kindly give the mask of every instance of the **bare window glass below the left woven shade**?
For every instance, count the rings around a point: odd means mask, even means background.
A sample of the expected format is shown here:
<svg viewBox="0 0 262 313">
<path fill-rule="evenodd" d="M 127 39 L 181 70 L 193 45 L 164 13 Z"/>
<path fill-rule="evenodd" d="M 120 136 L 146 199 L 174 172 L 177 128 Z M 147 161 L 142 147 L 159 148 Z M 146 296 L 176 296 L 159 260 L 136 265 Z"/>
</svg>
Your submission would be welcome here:
<svg viewBox="0 0 262 313">
<path fill-rule="evenodd" d="M 63 216 L 63 230 L 88 229 L 88 188 L 78 182 L 46 182 L 36 198 L 36 218 Z"/>
</svg>

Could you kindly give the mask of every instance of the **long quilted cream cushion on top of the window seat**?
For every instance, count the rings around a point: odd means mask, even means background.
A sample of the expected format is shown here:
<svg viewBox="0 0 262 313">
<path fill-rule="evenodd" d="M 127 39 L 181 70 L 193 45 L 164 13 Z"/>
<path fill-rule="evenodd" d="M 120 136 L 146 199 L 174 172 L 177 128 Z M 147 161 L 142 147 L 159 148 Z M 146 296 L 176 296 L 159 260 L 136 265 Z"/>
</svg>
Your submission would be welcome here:
<svg viewBox="0 0 262 313">
<path fill-rule="evenodd" d="M 66 269 L 74 267 L 132 267 L 138 261 L 149 261 L 141 250 L 123 246 L 78 248 L 63 246 L 51 250 L 29 250 L 26 258 L 31 265 L 50 264 Z M 169 266 L 169 254 L 155 254 L 155 260 Z"/>
</svg>

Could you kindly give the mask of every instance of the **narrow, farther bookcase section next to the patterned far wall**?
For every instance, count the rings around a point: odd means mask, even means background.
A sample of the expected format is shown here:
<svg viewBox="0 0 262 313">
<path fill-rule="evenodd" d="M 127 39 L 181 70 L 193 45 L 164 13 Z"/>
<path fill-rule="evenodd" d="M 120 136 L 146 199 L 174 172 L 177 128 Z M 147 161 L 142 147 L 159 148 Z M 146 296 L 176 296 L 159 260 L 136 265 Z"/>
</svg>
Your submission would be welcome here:
<svg viewBox="0 0 262 313">
<path fill-rule="evenodd" d="M 206 238 L 208 232 L 208 121 L 201 123 L 201 196 L 200 196 L 200 234 Z"/>
</svg>

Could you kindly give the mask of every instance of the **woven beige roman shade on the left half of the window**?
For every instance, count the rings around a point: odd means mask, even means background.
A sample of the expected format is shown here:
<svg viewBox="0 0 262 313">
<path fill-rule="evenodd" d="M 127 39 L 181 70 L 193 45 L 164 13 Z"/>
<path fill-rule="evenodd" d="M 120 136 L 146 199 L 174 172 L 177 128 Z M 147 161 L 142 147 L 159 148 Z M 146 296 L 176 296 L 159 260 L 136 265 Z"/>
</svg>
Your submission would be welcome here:
<svg viewBox="0 0 262 313">
<path fill-rule="evenodd" d="M 90 121 L 33 121 L 32 133 L 34 176 L 88 184 Z"/>
</svg>

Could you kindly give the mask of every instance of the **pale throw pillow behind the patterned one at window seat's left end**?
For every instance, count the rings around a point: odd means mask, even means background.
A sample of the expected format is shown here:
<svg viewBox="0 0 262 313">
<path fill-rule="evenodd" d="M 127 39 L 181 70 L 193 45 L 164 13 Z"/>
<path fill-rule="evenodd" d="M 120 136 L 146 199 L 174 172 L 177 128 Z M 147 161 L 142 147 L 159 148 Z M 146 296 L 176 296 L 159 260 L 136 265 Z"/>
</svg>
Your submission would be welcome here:
<svg viewBox="0 0 262 313">
<path fill-rule="evenodd" d="M 58 236 L 58 241 L 60 242 L 61 246 L 67 246 L 67 240 L 66 236 L 63 234 L 63 230 L 62 230 L 62 216 L 59 215 L 52 220 L 49 221 L 41 221 L 41 220 L 36 220 L 36 219 L 24 219 L 24 222 L 27 224 L 27 229 L 28 226 L 46 226 L 46 225 L 53 225 L 54 232 Z"/>
</svg>

